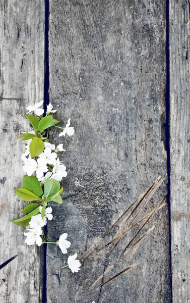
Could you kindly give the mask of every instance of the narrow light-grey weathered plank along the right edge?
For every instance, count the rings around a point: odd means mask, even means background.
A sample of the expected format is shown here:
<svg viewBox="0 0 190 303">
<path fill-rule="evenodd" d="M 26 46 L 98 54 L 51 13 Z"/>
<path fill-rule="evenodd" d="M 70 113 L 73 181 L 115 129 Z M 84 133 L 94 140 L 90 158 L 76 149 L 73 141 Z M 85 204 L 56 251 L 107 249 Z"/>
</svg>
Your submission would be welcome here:
<svg viewBox="0 0 190 303">
<path fill-rule="evenodd" d="M 190 298 L 189 7 L 170 1 L 171 254 L 174 303 Z"/>
</svg>

